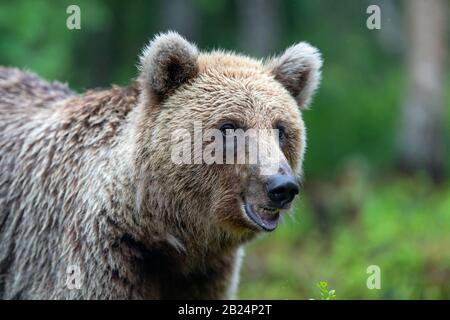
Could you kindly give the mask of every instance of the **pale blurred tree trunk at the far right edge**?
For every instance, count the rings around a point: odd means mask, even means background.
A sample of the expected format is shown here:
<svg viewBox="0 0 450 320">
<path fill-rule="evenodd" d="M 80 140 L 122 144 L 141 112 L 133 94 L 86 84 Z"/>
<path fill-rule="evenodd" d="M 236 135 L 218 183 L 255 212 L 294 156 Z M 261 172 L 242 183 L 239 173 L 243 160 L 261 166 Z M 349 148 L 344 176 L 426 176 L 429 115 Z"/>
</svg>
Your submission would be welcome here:
<svg viewBox="0 0 450 320">
<path fill-rule="evenodd" d="M 443 104 L 447 0 L 409 0 L 408 96 L 403 107 L 401 169 L 443 179 Z"/>
</svg>

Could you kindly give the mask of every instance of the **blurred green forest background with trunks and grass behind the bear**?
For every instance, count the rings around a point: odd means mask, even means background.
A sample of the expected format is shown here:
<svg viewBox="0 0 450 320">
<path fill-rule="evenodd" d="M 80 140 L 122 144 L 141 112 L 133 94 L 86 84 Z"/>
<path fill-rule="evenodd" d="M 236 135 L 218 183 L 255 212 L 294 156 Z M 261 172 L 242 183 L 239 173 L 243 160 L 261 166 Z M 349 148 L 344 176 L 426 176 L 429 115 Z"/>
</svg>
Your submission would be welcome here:
<svg viewBox="0 0 450 320">
<path fill-rule="evenodd" d="M 81 8 L 81 30 L 66 9 Z M 367 7 L 381 8 L 369 30 Z M 271 55 L 298 41 L 325 60 L 304 113 L 305 189 L 293 217 L 247 249 L 239 298 L 450 298 L 447 0 L 0 0 L 0 64 L 78 91 L 126 84 L 157 32 L 202 49 Z M 369 290 L 367 267 L 381 268 Z"/>
</svg>

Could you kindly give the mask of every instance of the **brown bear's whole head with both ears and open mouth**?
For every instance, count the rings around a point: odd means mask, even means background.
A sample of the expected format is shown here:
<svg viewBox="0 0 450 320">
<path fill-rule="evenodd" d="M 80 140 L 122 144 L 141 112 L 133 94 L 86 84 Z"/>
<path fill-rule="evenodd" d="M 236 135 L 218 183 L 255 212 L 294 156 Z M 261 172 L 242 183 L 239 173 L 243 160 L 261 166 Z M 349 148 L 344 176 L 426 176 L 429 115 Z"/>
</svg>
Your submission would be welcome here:
<svg viewBox="0 0 450 320">
<path fill-rule="evenodd" d="M 138 172 L 148 178 L 138 191 L 138 207 L 167 206 L 147 200 L 162 193 L 156 198 L 176 208 L 162 210 L 163 219 L 177 221 L 179 230 L 171 232 L 203 239 L 241 242 L 274 230 L 298 193 L 306 146 L 300 110 L 319 84 L 321 64 L 318 51 L 306 43 L 258 61 L 223 51 L 201 53 L 176 33 L 157 36 L 141 57 L 136 159 Z M 242 140 L 241 162 L 237 131 L 252 132 Z M 187 146 L 182 151 L 192 152 L 183 158 L 188 161 L 174 161 L 178 140 Z M 208 148 L 220 161 L 205 161 Z M 226 158 L 230 150 L 233 156 Z M 272 168 L 264 173 L 268 163 Z"/>
</svg>

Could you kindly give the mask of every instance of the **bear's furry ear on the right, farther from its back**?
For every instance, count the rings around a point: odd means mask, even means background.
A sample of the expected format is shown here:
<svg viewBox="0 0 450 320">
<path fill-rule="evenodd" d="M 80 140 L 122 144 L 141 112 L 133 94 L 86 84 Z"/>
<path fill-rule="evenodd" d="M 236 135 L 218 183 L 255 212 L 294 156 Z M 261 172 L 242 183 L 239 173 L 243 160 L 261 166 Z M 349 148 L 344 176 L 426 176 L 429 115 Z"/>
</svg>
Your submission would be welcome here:
<svg viewBox="0 0 450 320">
<path fill-rule="evenodd" d="M 320 52 L 308 43 L 300 42 L 269 60 L 267 65 L 275 79 L 297 100 L 300 108 L 307 108 L 320 82 Z"/>
</svg>

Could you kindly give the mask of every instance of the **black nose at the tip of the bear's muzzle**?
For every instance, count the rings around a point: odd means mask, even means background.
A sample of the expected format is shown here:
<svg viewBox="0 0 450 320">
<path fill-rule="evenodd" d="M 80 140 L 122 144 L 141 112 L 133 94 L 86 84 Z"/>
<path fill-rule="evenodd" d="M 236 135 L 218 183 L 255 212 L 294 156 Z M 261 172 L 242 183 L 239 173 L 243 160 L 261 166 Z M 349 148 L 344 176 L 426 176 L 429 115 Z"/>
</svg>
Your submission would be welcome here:
<svg viewBox="0 0 450 320">
<path fill-rule="evenodd" d="M 269 178 L 267 183 L 269 199 L 280 209 L 290 203 L 298 192 L 297 180 L 290 175 L 277 174 Z"/>
</svg>

